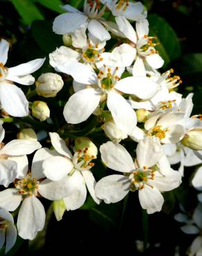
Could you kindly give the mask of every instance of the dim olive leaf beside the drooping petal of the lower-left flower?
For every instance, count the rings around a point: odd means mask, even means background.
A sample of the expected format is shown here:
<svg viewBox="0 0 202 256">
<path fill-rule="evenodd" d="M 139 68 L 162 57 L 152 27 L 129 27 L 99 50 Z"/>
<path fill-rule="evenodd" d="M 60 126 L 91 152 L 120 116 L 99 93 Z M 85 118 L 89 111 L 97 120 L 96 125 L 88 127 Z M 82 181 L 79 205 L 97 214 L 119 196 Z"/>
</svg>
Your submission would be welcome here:
<svg viewBox="0 0 202 256">
<path fill-rule="evenodd" d="M 37 236 L 35 237 L 35 239 L 29 241 L 30 251 L 33 252 L 36 250 L 40 250 L 44 246 L 46 242 L 46 232 L 48 228 L 48 223 L 52 216 L 53 216 L 53 205 L 51 203 L 46 212 L 46 221 L 45 221 L 44 229 L 40 232 L 37 232 Z"/>
</svg>

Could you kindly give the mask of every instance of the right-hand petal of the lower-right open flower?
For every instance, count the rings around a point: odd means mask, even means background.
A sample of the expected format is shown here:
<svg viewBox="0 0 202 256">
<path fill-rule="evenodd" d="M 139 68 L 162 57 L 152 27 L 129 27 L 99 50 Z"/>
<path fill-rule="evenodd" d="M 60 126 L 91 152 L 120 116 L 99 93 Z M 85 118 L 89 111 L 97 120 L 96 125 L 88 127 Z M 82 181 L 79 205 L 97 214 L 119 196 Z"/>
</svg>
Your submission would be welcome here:
<svg viewBox="0 0 202 256">
<path fill-rule="evenodd" d="M 165 176 L 158 171 L 154 174 L 154 180 L 149 182 L 149 184 L 154 185 L 161 192 L 174 190 L 174 188 L 178 188 L 181 185 L 181 174 L 178 171 L 170 169 L 169 173 Z"/>
</svg>

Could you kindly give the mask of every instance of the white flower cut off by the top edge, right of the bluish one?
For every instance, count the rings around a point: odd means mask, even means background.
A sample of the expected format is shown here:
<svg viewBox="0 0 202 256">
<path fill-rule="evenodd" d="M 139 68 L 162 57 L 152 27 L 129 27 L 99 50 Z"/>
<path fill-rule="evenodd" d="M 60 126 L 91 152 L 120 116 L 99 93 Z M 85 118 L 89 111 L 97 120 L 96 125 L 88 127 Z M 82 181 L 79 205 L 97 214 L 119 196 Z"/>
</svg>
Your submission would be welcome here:
<svg viewBox="0 0 202 256">
<path fill-rule="evenodd" d="M 138 21 L 147 17 L 147 12 L 143 12 L 142 3 L 132 3 L 128 0 L 101 0 L 111 10 L 114 16 L 123 16 L 132 21 Z"/>
</svg>

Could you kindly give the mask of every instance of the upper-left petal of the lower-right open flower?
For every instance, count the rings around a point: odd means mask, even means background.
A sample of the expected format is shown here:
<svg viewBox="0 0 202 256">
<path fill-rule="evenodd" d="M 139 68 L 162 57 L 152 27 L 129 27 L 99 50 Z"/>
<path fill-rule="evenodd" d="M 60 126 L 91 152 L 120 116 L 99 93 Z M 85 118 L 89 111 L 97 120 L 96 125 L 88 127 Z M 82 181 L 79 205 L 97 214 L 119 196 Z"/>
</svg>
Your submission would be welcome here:
<svg viewBox="0 0 202 256">
<path fill-rule="evenodd" d="M 101 158 L 104 165 L 118 172 L 135 170 L 133 159 L 127 149 L 118 143 L 108 141 L 100 146 Z"/>
</svg>

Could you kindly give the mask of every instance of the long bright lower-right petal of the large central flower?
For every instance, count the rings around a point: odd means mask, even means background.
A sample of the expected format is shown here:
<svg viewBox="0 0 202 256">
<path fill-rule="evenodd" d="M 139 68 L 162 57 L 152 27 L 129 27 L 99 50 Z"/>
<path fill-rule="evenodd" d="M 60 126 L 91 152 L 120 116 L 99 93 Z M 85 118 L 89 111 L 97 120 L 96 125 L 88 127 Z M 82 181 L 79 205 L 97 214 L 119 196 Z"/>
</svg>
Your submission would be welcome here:
<svg viewBox="0 0 202 256">
<path fill-rule="evenodd" d="M 137 124 L 136 112 L 122 95 L 110 91 L 107 97 L 107 107 L 111 111 L 116 126 L 126 134 L 131 134 Z"/>
</svg>

